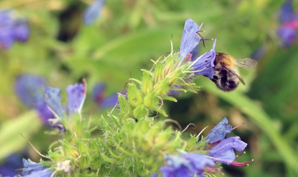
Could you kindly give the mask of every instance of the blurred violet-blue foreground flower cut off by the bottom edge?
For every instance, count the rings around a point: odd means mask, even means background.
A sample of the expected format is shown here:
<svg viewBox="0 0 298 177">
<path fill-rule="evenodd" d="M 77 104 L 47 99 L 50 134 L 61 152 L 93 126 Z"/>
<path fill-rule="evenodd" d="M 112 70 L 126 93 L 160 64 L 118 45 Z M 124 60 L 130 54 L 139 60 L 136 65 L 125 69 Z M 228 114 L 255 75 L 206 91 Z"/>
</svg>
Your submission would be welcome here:
<svg viewBox="0 0 298 177">
<path fill-rule="evenodd" d="M 203 176 L 206 166 L 214 166 L 214 162 L 211 159 L 199 153 L 181 153 L 181 156 L 167 155 L 165 156 L 165 161 L 166 166 L 159 168 L 163 177 L 187 177 L 195 174 Z"/>
</svg>

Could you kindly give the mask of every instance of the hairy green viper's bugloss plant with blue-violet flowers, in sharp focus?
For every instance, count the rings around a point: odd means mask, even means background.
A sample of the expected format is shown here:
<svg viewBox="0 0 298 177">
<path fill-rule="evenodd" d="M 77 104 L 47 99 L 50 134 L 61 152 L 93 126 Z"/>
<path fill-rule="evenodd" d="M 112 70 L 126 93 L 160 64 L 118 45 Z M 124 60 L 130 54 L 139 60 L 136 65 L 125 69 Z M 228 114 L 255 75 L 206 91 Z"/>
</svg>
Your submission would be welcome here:
<svg viewBox="0 0 298 177">
<path fill-rule="evenodd" d="M 202 26 L 202 25 L 201 25 Z M 59 88 L 45 87 L 45 102 L 55 119 L 49 123 L 63 138 L 53 143 L 40 163 L 39 173 L 52 176 L 215 176 L 220 163 L 234 165 L 235 153 L 246 143 L 239 137 L 225 138 L 232 131 L 227 119 L 221 121 L 206 138 L 190 135 L 167 126 L 164 100 L 176 102 L 173 90 L 199 91 L 193 81 L 198 76 L 213 77 L 215 43 L 198 58 L 190 52 L 204 40 L 198 36 L 201 26 L 187 19 L 180 51 L 172 51 L 143 69 L 141 80 L 129 79 L 127 92 L 118 94 L 118 102 L 108 115 L 92 118 L 82 113 L 86 82 L 68 86 L 68 111 L 61 106 Z M 65 113 L 66 112 L 66 113 Z M 86 118 L 87 117 L 87 118 Z M 92 131 L 100 129 L 100 137 Z M 24 164 L 28 162 L 25 161 Z M 234 164 L 233 164 L 234 163 Z M 246 164 L 248 162 L 244 162 Z M 240 165 L 239 165 L 240 166 Z M 44 171 L 46 170 L 46 171 Z M 37 173 L 36 171 L 34 173 Z M 25 175 L 25 174 L 24 174 Z"/>
</svg>

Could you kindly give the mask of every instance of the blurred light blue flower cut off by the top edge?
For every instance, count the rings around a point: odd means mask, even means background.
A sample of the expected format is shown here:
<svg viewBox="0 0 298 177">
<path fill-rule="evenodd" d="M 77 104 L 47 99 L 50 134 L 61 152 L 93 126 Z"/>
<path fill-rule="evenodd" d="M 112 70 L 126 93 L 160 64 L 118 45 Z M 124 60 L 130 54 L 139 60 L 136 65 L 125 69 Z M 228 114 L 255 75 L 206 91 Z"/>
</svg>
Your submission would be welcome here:
<svg viewBox="0 0 298 177">
<path fill-rule="evenodd" d="M 105 0 L 94 0 L 92 4 L 83 12 L 83 21 L 87 25 L 91 25 L 96 18 L 99 17 Z"/>
</svg>

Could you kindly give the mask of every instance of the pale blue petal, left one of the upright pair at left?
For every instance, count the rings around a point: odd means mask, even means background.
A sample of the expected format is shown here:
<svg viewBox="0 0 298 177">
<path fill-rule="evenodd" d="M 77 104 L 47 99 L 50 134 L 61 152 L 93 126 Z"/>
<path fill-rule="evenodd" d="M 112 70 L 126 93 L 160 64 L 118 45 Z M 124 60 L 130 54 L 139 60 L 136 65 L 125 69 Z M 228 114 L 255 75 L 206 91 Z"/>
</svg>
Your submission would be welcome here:
<svg viewBox="0 0 298 177">
<path fill-rule="evenodd" d="M 60 118 L 62 115 L 60 88 L 51 88 L 46 86 L 44 88 L 45 101 L 49 109 Z"/>
</svg>

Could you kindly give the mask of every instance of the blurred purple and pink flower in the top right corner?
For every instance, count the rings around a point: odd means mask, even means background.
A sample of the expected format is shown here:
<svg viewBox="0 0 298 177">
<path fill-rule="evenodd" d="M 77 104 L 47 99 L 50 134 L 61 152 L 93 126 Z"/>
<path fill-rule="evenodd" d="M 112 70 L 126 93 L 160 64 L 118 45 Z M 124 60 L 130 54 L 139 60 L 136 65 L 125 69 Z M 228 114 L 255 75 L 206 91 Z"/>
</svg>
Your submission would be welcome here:
<svg viewBox="0 0 298 177">
<path fill-rule="evenodd" d="M 293 12 L 292 0 L 287 0 L 280 8 L 280 27 L 277 34 L 281 37 L 285 45 L 293 44 L 297 37 L 298 13 Z"/>
</svg>

